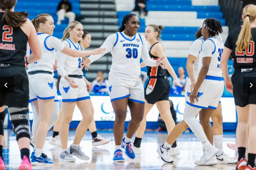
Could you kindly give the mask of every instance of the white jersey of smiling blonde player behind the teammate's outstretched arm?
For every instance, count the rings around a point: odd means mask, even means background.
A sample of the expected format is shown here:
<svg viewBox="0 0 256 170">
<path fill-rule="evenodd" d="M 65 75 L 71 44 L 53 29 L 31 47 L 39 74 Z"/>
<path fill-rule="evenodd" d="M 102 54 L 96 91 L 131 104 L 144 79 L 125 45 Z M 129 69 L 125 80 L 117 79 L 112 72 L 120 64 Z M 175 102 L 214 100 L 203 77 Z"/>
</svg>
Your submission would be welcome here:
<svg viewBox="0 0 256 170">
<path fill-rule="evenodd" d="M 83 50 L 79 43 L 74 43 L 72 40 L 70 40 L 70 38 L 67 38 L 66 40 L 64 40 L 63 43 L 73 50 Z M 58 57 L 59 55 L 65 55 L 65 54 L 60 54 L 60 52 L 58 52 Z M 83 59 L 82 57 L 75 58 L 75 57 L 66 55 L 64 70 L 66 71 L 67 75 L 83 75 L 83 71 L 80 65 L 82 62 L 82 59 Z"/>
</svg>

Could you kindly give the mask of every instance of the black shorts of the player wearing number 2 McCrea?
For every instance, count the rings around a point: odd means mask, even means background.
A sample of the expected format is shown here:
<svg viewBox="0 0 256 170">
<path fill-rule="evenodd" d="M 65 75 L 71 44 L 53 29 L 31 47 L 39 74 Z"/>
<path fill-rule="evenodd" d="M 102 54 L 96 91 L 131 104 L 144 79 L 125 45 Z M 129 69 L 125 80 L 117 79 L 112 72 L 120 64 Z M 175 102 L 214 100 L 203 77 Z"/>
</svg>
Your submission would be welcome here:
<svg viewBox="0 0 256 170">
<path fill-rule="evenodd" d="M 25 67 L 0 68 L 0 77 L 13 77 L 14 93 L 0 93 L 0 107 L 28 107 L 29 83 Z"/>
</svg>

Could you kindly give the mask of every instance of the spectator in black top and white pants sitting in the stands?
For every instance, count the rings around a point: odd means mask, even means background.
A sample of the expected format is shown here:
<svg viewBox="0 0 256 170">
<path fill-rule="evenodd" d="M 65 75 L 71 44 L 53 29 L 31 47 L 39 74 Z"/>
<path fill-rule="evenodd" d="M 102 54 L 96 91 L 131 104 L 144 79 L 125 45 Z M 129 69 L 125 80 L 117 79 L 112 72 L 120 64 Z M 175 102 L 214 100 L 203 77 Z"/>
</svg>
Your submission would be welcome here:
<svg viewBox="0 0 256 170">
<path fill-rule="evenodd" d="M 74 21 L 76 18 L 76 14 L 72 12 L 72 5 L 68 0 L 62 0 L 59 2 L 57 8 L 58 22 L 57 24 L 61 24 L 61 21 L 64 20 L 64 17 L 68 18 L 68 22 Z"/>
</svg>

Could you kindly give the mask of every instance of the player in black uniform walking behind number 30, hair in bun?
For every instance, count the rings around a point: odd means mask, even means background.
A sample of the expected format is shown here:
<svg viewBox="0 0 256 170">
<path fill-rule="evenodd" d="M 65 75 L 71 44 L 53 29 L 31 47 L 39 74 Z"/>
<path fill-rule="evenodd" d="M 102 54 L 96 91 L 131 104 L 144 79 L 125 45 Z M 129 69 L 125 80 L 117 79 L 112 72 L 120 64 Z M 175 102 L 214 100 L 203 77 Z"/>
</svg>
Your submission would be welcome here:
<svg viewBox="0 0 256 170">
<path fill-rule="evenodd" d="M 158 67 L 149 67 L 147 66 L 147 76 L 149 76 L 149 82 L 144 89 L 145 95 L 145 111 L 144 118 L 140 123 L 140 126 L 136 132 L 136 138 L 133 143 L 133 151 L 135 154 L 142 154 L 140 143 L 142 140 L 142 136 L 146 129 L 146 115 L 153 107 L 154 104 L 157 105 L 157 108 L 160 112 L 162 119 L 166 124 L 166 128 L 168 133 L 171 133 L 172 129 L 175 127 L 175 122 L 172 119 L 171 111 L 170 111 L 170 103 L 169 103 L 169 93 L 170 93 L 170 83 L 167 79 L 166 69 L 169 71 L 171 76 L 173 77 L 173 83 L 177 84 L 181 87 L 179 80 L 170 65 L 167 57 L 164 53 L 164 48 L 161 43 L 159 43 L 159 37 L 161 34 L 161 30 L 163 26 L 156 26 L 151 24 L 145 29 L 145 38 L 150 43 L 151 48 L 149 49 L 149 56 L 154 60 L 158 58 L 164 57 L 162 63 L 164 65 Z M 141 67 L 146 66 L 144 63 L 140 64 Z M 176 142 L 173 143 L 172 154 L 178 155 L 180 151 L 176 147 Z"/>
</svg>

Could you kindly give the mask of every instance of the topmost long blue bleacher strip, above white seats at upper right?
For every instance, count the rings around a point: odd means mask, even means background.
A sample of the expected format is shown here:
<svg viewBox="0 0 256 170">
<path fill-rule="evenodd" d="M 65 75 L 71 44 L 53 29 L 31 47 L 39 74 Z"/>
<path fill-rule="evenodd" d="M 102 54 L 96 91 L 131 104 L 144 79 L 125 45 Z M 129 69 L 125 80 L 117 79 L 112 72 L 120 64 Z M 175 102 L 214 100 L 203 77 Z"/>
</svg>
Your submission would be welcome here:
<svg viewBox="0 0 256 170">
<path fill-rule="evenodd" d="M 196 11 L 196 12 L 220 12 L 220 6 L 192 6 L 192 5 L 147 5 L 147 10 L 152 11 Z"/>
</svg>

